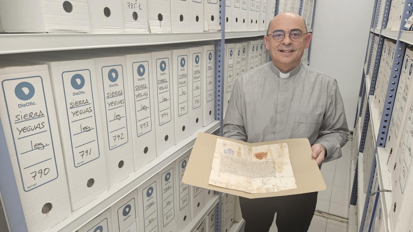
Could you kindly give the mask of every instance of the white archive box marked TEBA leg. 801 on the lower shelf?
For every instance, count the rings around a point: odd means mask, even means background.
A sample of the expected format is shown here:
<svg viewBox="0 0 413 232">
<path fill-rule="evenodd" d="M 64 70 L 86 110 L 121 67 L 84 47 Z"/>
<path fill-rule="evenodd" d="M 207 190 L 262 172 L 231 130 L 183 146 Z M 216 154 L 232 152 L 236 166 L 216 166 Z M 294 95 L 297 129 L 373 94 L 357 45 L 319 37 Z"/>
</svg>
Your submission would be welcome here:
<svg viewBox="0 0 413 232">
<path fill-rule="evenodd" d="M 162 220 L 160 220 L 160 227 L 161 231 L 165 232 L 178 231 L 178 217 L 176 216 L 176 206 L 178 203 L 176 202 L 175 197 L 176 188 L 178 186 L 175 184 L 175 169 L 175 162 L 172 162 L 159 172 L 159 183 L 161 184 L 159 189 L 161 191 L 160 208 L 162 216 Z"/>
</svg>

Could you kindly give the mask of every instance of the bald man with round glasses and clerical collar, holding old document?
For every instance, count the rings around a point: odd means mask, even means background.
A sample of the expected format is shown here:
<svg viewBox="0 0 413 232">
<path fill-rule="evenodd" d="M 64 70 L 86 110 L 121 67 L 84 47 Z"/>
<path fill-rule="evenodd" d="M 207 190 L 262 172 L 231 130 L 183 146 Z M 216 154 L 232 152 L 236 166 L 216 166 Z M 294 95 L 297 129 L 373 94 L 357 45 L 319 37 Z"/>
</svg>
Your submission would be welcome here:
<svg viewBox="0 0 413 232">
<path fill-rule="evenodd" d="M 304 20 L 294 13 L 279 14 L 264 39 L 272 62 L 235 82 L 223 136 L 249 143 L 308 138 L 319 166 L 341 157 L 349 132 L 342 97 L 335 79 L 301 64 L 311 40 Z M 307 231 L 317 193 L 240 197 L 245 232 L 268 232 L 275 213 L 278 232 Z"/>
</svg>

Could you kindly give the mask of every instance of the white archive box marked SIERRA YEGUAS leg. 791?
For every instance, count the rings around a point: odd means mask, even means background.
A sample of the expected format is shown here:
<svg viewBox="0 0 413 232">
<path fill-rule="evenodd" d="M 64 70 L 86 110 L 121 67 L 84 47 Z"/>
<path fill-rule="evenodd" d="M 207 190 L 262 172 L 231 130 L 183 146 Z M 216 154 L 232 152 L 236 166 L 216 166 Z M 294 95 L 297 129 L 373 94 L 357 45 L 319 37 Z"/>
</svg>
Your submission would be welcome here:
<svg viewBox="0 0 413 232">
<path fill-rule="evenodd" d="M 70 203 L 75 211 L 108 189 L 95 62 L 42 54 L 21 59 L 49 68 Z"/>
</svg>

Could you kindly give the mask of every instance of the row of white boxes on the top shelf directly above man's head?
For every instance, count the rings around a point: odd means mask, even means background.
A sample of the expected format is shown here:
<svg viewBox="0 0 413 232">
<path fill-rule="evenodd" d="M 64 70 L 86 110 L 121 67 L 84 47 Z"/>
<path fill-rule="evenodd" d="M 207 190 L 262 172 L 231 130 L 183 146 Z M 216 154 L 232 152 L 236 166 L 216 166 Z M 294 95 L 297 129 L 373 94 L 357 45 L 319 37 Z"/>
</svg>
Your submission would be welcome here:
<svg viewBox="0 0 413 232">
<path fill-rule="evenodd" d="M 302 9 L 301 17 L 306 21 L 307 28 L 312 28 L 314 0 L 279 0 L 278 13 L 294 12 L 299 14 L 300 7 Z"/>
</svg>

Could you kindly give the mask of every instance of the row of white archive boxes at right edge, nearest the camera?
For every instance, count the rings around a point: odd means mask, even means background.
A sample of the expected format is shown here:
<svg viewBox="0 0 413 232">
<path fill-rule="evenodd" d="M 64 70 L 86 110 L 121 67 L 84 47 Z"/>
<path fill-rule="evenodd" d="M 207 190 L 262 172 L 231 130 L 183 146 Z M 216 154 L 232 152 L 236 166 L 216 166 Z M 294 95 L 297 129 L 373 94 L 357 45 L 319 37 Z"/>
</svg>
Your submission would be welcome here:
<svg viewBox="0 0 413 232">
<path fill-rule="evenodd" d="M 399 78 L 394 100 L 389 136 L 386 142 L 387 168 L 390 173 L 392 204 L 389 209 L 393 231 L 407 231 L 413 217 L 413 183 L 409 172 L 413 148 L 413 51 L 408 48 Z"/>
</svg>

